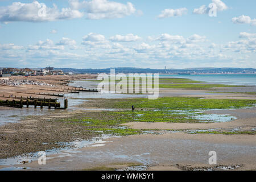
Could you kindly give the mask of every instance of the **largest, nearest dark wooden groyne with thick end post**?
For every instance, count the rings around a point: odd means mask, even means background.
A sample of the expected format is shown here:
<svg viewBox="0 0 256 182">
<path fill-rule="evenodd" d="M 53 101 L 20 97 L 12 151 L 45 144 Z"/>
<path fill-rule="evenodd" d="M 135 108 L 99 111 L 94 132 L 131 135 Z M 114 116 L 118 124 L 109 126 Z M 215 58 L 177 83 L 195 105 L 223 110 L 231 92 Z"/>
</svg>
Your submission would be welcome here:
<svg viewBox="0 0 256 182">
<path fill-rule="evenodd" d="M 18 107 L 18 108 L 22 108 L 23 105 L 26 105 L 27 108 L 29 106 L 34 106 L 35 109 L 37 106 L 40 106 L 41 109 L 43 109 L 43 107 L 48 107 L 48 109 L 51 109 L 51 107 L 54 107 L 54 109 L 67 109 L 68 108 L 68 100 L 65 99 L 64 101 L 64 107 L 60 107 L 60 102 L 44 102 L 44 101 L 38 101 L 38 100 L 6 100 L 6 101 L 2 101 L 0 100 L 0 106 L 6 106 L 6 107 Z"/>
</svg>

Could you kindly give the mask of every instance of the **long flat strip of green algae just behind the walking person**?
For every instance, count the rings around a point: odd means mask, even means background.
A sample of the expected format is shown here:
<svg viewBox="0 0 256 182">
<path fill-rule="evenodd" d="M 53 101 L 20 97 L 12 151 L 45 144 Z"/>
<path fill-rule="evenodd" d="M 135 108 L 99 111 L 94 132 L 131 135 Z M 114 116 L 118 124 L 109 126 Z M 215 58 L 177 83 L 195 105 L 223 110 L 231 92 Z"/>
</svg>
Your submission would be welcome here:
<svg viewBox="0 0 256 182">
<path fill-rule="evenodd" d="M 127 99 L 90 99 L 80 107 L 99 107 L 113 109 L 130 109 L 134 105 L 138 109 L 238 109 L 256 104 L 255 100 L 217 100 L 199 97 L 160 97 L 157 100 L 147 98 Z"/>
</svg>

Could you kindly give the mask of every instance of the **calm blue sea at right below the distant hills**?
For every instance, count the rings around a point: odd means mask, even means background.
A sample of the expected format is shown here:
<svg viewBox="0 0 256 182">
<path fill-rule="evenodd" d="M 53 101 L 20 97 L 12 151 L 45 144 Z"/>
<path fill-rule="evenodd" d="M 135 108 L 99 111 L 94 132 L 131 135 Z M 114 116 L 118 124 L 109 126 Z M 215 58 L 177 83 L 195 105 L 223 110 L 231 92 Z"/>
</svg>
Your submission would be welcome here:
<svg viewBox="0 0 256 182">
<path fill-rule="evenodd" d="M 189 78 L 191 80 L 227 85 L 255 85 L 256 75 L 159 75 L 160 78 Z"/>
</svg>

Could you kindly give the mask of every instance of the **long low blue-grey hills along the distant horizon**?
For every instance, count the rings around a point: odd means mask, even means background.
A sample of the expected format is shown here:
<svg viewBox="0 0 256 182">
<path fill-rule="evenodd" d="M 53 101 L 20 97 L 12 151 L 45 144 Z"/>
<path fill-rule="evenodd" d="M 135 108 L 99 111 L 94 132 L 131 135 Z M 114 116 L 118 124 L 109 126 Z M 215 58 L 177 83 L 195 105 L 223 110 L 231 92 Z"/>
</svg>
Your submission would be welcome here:
<svg viewBox="0 0 256 182">
<path fill-rule="evenodd" d="M 105 69 L 75 69 L 75 68 L 55 68 L 62 69 L 63 72 L 72 73 L 110 73 L 110 68 Z M 150 68 L 114 68 L 115 73 L 191 73 L 191 74 L 212 74 L 212 73 L 256 73 L 254 68 L 186 68 L 186 69 L 150 69 Z"/>
</svg>

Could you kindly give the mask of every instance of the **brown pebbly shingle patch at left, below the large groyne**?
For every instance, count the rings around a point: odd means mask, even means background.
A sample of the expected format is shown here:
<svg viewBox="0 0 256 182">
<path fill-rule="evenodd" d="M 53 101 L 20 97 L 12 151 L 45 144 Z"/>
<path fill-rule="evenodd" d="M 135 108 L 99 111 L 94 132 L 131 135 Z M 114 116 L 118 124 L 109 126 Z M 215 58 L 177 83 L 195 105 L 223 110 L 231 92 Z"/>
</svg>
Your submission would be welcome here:
<svg viewBox="0 0 256 182">
<path fill-rule="evenodd" d="M 61 143 L 90 139 L 96 134 L 85 131 L 83 126 L 69 125 L 53 118 L 72 117 L 77 111 L 29 116 L 20 122 L 0 126 L 0 159 L 18 155 L 30 156 L 30 152 L 61 148 Z"/>
</svg>

